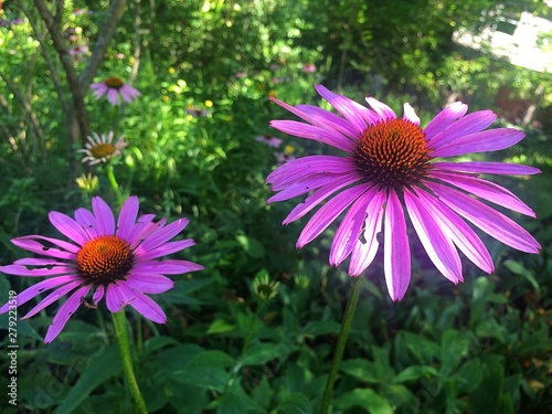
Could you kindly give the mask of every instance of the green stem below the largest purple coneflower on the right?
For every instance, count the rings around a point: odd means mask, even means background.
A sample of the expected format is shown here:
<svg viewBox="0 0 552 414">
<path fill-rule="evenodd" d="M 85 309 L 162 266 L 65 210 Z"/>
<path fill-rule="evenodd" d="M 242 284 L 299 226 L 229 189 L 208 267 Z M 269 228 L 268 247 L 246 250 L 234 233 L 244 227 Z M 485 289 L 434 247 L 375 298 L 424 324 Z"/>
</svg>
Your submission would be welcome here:
<svg viewBox="0 0 552 414">
<path fill-rule="evenodd" d="M 361 282 L 362 278 L 360 276 L 354 277 L 352 280 L 351 295 L 349 296 L 347 308 L 343 315 L 343 321 L 341 322 L 341 331 L 339 332 L 338 344 L 336 347 L 336 353 L 333 354 L 333 361 L 331 361 L 328 382 L 326 382 L 326 391 L 323 392 L 321 411 L 322 414 L 328 414 L 328 411 L 330 410 L 333 383 L 336 382 L 339 365 L 341 364 L 341 359 L 343 358 L 344 346 L 347 343 L 347 338 L 349 337 L 349 329 L 351 328 L 352 318 L 354 317 L 354 310 L 357 309 L 357 304 L 359 302 Z"/>
</svg>

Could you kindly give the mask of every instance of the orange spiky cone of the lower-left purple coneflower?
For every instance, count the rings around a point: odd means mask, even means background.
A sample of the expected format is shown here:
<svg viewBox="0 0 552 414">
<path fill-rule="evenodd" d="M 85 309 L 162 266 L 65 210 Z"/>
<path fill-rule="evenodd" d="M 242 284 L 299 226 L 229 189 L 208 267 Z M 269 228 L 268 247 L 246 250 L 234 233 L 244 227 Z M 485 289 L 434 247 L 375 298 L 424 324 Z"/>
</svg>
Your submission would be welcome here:
<svg viewBox="0 0 552 414">
<path fill-rule="evenodd" d="M 135 264 L 127 242 L 118 236 L 98 236 L 76 254 L 78 274 L 88 283 L 107 286 L 124 280 Z"/>
</svg>

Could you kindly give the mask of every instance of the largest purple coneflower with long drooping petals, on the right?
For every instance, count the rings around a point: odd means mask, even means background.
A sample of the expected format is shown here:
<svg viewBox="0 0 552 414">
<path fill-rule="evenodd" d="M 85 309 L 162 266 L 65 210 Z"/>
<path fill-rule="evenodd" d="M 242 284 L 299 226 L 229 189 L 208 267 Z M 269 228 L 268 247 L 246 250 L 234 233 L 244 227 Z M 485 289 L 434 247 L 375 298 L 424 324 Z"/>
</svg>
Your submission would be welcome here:
<svg viewBox="0 0 552 414">
<path fill-rule="evenodd" d="M 311 242 L 349 209 L 333 237 L 330 264 L 337 266 L 350 256 L 349 275 L 359 276 L 372 263 L 379 248 L 378 233 L 383 232 L 385 280 L 393 300 L 403 298 L 411 278 L 405 211 L 435 267 L 455 284 L 463 280 L 457 250 L 484 272 L 493 272 L 488 250 L 465 220 L 513 248 L 538 253 L 539 243 L 526 230 L 473 197 L 534 217 L 510 191 L 478 176 L 534 174 L 540 172 L 537 168 L 437 160 L 508 148 L 520 141 L 523 132 L 512 128 L 484 130 L 496 115 L 490 110 L 466 115 L 468 107 L 461 103 L 449 105 L 421 128 L 408 104 L 403 118 L 397 118 L 373 97 L 367 98 L 369 109 L 321 85 L 316 89 L 341 117 L 319 107 L 293 107 L 273 99 L 308 123 L 273 120 L 274 128 L 325 142 L 347 155 L 299 158 L 267 177 L 272 190 L 279 191 L 268 203 L 312 192 L 284 224 L 331 197 L 308 221 L 297 247 Z"/>
</svg>

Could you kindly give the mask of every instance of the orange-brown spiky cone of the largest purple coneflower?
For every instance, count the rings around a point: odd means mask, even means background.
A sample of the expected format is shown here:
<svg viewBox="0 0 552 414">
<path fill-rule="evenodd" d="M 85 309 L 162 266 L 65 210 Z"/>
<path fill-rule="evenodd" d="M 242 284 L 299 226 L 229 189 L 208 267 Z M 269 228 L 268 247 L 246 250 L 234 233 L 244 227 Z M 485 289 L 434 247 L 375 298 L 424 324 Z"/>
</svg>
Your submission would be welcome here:
<svg viewBox="0 0 552 414">
<path fill-rule="evenodd" d="M 431 151 L 424 131 L 416 124 L 388 119 L 362 132 L 353 160 L 367 181 L 401 190 L 425 177 Z"/>
</svg>

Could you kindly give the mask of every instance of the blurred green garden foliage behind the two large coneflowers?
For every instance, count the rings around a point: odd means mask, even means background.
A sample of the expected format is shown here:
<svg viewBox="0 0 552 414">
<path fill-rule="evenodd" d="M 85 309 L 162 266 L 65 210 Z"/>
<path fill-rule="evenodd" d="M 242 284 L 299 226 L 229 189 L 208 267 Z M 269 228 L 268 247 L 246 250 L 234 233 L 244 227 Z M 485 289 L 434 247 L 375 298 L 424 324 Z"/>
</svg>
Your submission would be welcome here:
<svg viewBox="0 0 552 414">
<path fill-rule="evenodd" d="M 47 6 L 52 13 L 63 6 L 60 33 L 81 73 L 109 2 Z M 94 79 L 119 76 L 142 95 L 112 107 L 87 92 L 91 129 L 127 138 L 115 166 L 123 191 L 139 195 L 144 212 L 191 219 L 185 236 L 197 245 L 185 258 L 205 266 L 176 277 L 176 288 L 158 298 L 167 326 L 134 319 L 142 338 L 135 362 L 151 412 L 318 412 L 348 276 L 327 265 L 332 231 L 296 251 L 304 223 L 280 225 L 294 202 L 267 206 L 264 184 L 283 160 L 327 150 L 268 127 L 289 117 L 268 97 L 323 105 L 316 83 L 359 102 L 375 96 L 397 113 L 408 102 L 423 123 L 458 99 L 470 110 L 492 109 L 497 124 L 522 128 L 527 138 L 485 159 L 542 170 L 530 179 L 493 178 L 535 210 L 538 220 L 514 220 L 539 240 L 540 255 L 484 237 L 496 272 L 487 276 L 466 262 L 466 283 L 453 286 L 413 243 L 413 280 L 401 302 L 389 299 L 374 262 L 333 412 L 550 410 L 551 74 L 513 65 L 495 47 L 454 41 L 461 31 L 508 32 L 523 12 L 550 19 L 546 3 L 535 0 L 127 1 Z M 68 138 L 61 100 L 70 89 L 36 10 L 3 1 L 1 13 L 0 264 L 8 264 L 24 255 L 10 238 L 55 236 L 49 211 L 72 213 L 94 194 L 113 194 L 102 167 L 82 164 L 82 142 Z M 549 56 L 551 38 L 543 32 L 537 41 Z M 273 134 L 284 140 L 278 148 L 255 139 Z M 77 184 L 83 173 L 97 176 L 98 185 Z M 266 277 L 279 282 L 269 301 L 254 286 Z M 0 275 L 0 301 L 28 285 Z M 19 321 L 20 407 L 2 397 L 1 412 L 128 412 L 105 312 L 79 309 L 50 346 L 41 336 L 53 310 Z M 6 390 L 9 361 L 3 351 L 0 358 Z"/>
</svg>

